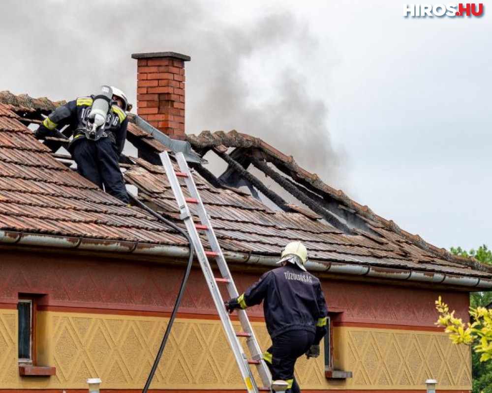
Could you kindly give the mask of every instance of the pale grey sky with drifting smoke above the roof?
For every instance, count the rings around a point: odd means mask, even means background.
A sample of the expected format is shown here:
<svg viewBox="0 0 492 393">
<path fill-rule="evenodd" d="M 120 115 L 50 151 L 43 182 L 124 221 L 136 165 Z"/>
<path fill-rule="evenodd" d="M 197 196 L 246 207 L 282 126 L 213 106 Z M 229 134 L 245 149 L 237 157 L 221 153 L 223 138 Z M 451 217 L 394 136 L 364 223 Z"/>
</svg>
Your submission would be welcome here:
<svg viewBox="0 0 492 393">
<path fill-rule="evenodd" d="M 102 3 L 102 4 L 101 4 Z M 403 1 L 1 2 L 0 90 L 136 91 L 135 52 L 186 63 L 188 133 L 260 136 L 436 246 L 491 244 L 492 23 Z"/>
</svg>

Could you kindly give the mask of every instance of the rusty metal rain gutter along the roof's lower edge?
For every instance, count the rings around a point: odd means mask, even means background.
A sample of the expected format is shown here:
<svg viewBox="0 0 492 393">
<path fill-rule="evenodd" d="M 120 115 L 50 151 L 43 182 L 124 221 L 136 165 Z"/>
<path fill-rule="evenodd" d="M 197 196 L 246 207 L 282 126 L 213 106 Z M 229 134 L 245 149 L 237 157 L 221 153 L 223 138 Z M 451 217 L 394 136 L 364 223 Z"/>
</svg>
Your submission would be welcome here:
<svg viewBox="0 0 492 393">
<path fill-rule="evenodd" d="M 0 230 L 0 244 L 56 247 L 64 249 L 77 249 L 86 251 L 105 251 L 112 253 L 132 253 L 148 256 L 171 256 L 175 258 L 185 258 L 188 256 L 189 249 L 181 246 L 158 245 L 138 241 L 117 241 L 90 239 L 74 236 L 54 236 L 36 234 L 19 231 Z M 248 265 L 261 265 L 273 267 L 278 258 L 275 256 L 255 255 L 250 253 L 235 253 L 230 251 L 223 252 L 228 262 L 246 263 Z M 438 272 L 422 272 L 404 269 L 389 269 L 375 267 L 368 264 L 354 265 L 339 262 L 329 262 L 326 264 L 307 261 L 307 270 L 352 275 L 366 276 L 380 279 L 391 279 L 399 281 L 418 281 L 429 282 L 443 285 L 464 286 L 468 288 L 491 289 L 492 280 L 478 277 L 463 277 Z"/>
</svg>

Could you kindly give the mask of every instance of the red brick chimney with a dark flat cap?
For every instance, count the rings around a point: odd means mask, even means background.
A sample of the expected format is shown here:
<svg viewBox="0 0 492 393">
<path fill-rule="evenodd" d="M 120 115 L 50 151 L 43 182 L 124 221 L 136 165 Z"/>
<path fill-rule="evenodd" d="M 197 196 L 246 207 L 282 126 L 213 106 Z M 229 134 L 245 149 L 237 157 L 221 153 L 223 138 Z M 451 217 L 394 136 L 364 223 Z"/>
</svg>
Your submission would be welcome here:
<svg viewBox="0 0 492 393">
<path fill-rule="evenodd" d="M 184 62 L 175 52 L 134 53 L 137 114 L 173 139 L 184 140 Z"/>
</svg>

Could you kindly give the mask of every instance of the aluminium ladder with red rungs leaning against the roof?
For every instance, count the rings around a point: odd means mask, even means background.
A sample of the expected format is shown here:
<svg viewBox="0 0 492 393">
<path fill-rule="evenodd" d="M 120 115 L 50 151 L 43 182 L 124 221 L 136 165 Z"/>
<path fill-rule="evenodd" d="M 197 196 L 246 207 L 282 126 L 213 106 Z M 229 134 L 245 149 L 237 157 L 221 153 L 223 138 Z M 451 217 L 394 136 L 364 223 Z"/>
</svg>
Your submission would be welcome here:
<svg viewBox="0 0 492 393">
<path fill-rule="evenodd" d="M 261 352 L 258 341 L 254 336 L 251 324 L 249 323 L 248 317 L 246 315 L 246 311 L 238 310 L 239 321 L 241 323 L 243 331 L 236 332 L 232 326 L 231 319 L 229 318 L 229 313 L 225 309 L 224 301 L 222 299 L 217 284 L 225 284 L 231 298 L 239 296 L 239 293 L 236 289 L 236 285 L 234 284 L 229 268 L 227 267 L 227 263 L 217 242 L 217 238 L 215 237 L 214 229 L 212 228 L 207 212 L 205 211 L 202 199 L 198 194 L 198 190 L 196 188 L 195 182 L 193 181 L 193 177 L 191 176 L 188 164 L 184 159 L 184 155 L 181 152 L 177 152 L 175 154 L 176 160 L 178 162 L 179 171 L 175 171 L 167 152 L 160 153 L 159 157 L 162 161 L 162 165 L 166 170 L 169 183 L 171 184 L 174 196 L 176 197 L 176 201 L 178 202 L 178 206 L 180 209 L 180 218 L 184 220 L 186 229 L 188 230 L 191 241 L 193 242 L 193 246 L 198 256 L 198 260 L 205 276 L 205 280 L 207 281 L 210 293 L 212 294 L 212 298 L 214 299 L 215 307 L 220 316 L 220 321 L 222 322 L 222 326 L 224 327 L 225 334 L 227 336 L 229 344 L 231 345 L 234 357 L 236 358 L 236 362 L 239 365 L 239 369 L 246 384 L 247 391 L 248 393 L 270 392 L 272 376 L 265 361 L 263 360 L 263 354 Z M 184 183 L 186 185 L 186 188 L 188 189 L 190 197 L 184 197 L 183 189 L 178 181 L 178 177 L 184 178 Z M 193 222 L 188 204 L 195 205 L 196 212 L 200 219 L 200 224 L 195 224 Z M 199 230 L 205 232 L 210 247 L 212 249 L 211 251 L 205 251 L 205 249 L 203 248 L 200 235 L 198 234 Z M 220 270 L 220 274 L 222 275 L 221 278 L 216 278 L 214 276 L 212 268 L 210 267 L 209 261 L 207 259 L 208 256 L 215 258 L 215 261 Z M 247 359 L 246 353 L 238 337 L 246 337 L 246 343 L 252 359 Z M 257 367 L 258 374 L 260 375 L 261 382 L 263 384 L 261 387 L 256 384 L 249 365 L 255 365 Z"/>
</svg>

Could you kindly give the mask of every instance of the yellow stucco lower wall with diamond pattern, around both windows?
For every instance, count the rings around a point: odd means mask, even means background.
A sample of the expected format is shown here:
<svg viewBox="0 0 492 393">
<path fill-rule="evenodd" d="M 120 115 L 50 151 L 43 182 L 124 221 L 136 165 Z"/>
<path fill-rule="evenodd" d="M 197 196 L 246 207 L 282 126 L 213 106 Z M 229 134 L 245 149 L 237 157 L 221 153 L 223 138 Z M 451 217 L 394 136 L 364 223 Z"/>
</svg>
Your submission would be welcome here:
<svg viewBox="0 0 492 393">
<path fill-rule="evenodd" d="M 86 389 L 86 379 L 96 376 L 105 389 L 142 389 L 167 323 L 159 317 L 38 312 L 38 365 L 55 366 L 57 374 L 21 378 L 16 315 L 0 310 L 2 389 Z M 253 326 L 266 349 L 264 325 Z M 354 377 L 326 381 L 323 354 L 303 357 L 296 365 L 303 389 L 423 389 L 428 377 L 443 390 L 470 389 L 469 350 L 453 346 L 444 334 L 351 327 L 335 328 L 334 336 L 335 365 Z M 152 388 L 243 389 L 220 322 L 178 318 Z"/>
</svg>

